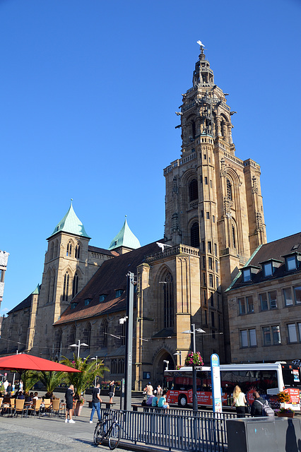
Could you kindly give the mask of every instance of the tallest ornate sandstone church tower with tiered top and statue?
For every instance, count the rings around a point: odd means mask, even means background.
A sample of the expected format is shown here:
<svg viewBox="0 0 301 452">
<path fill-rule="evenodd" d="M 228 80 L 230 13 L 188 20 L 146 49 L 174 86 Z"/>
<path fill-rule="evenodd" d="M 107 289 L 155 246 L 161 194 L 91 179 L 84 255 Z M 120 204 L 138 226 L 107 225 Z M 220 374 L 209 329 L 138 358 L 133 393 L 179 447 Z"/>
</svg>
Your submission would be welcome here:
<svg viewBox="0 0 301 452">
<path fill-rule="evenodd" d="M 227 93 L 214 81 L 203 46 L 192 88 L 182 95 L 177 115 L 182 155 L 164 169 L 165 241 L 200 251 L 202 328 L 211 325 L 223 300 L 224 338 L 229 333 L 224 290 L 257 246 L 266 243 L 260 167 L 240 160 L 232 142 Z M 230 357 L 226 354 L 226 360 Z"/>
</svg>

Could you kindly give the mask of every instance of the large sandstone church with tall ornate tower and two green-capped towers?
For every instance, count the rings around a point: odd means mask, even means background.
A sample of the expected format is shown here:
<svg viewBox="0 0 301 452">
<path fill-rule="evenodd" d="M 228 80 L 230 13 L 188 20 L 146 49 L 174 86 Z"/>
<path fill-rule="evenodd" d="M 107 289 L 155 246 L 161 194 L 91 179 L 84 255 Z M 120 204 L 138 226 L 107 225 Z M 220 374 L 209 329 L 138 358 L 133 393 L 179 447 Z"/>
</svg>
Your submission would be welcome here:
<svg viewBox="0 0 301 452">
<path fill-rule="evenodd" d="M 69 345 L 81 340 L 88 345 L 81 356 L 103 359 L 110 378 L 121 379 L 125 334 L 119 319 L 126 309 L 126 273 L 132 271 L 136 389 L 149 379 L 161 381 L 164 361 L 170 368 L 183 364 L 191 347 L 190 335 L 183 332 L 192 323 L 205 331 L 196 335 L 204 361 L 217 352 L 221 362 L 230 362 L 225 290 L 266 243 L 260 167 L 235 155 L 235 112 L 214 82 L 203 47 L 192 88 L 182 97 L 177 112 L 182 155 L 164 169 L 163 239 L 140 246 L 125 221 L 108 250 L 90 246 L 71 206 L 47 239 L 40 294 L 30 308 L 33 316 L 28 314 L 26 351 L 59 359 L 71 355 Z M 21 315 L 16 308 L 11 314 Z"/>
</svg>

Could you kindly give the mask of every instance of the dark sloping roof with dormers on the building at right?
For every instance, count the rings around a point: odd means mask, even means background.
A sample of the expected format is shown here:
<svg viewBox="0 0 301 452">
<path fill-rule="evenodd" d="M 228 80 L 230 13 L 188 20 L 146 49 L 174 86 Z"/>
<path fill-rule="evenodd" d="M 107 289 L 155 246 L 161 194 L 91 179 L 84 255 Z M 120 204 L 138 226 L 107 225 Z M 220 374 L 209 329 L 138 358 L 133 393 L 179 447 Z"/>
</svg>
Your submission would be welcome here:
<svg viewBox="0 0 301 452">
<path fill-rule="evenodd" d="M 248 266 L 259 267 L 260 268 L 259 272 L 253 274 L 252 281 L 248 281 L 247 283 L 243 282 L 242 273 L 240 272 L 235 278 L 235 280 L 232 281 L 232 284 L 230 285 L 230 287 L 228 287 L 228 290 L 258 284 L 268 280 L 283 278 L 286 275 L 301 273 L 301 266 L 299 266 L 295 270 L 290 271 L 286 270 L 285 258 L 283 256 L 295 252 L 301 254 L 301 232 L 297 232 L 297 234 L 293 234 L 288 237 L 284 237 L 283 239 L 278 239 L 275 240 L 274 242 L 269 242 L 264 245 L 261 245 L 259 249 L 249 259 L 247 264 L 244 266 L 244 267 Z M 262 269 L 262 263 L 266 261 L 271 261 L 271 259 L 275 261 L 281 261 L 282 263 L 278 268 L 276 268 L 273 275 L 265 277 Z"/>
</svg>

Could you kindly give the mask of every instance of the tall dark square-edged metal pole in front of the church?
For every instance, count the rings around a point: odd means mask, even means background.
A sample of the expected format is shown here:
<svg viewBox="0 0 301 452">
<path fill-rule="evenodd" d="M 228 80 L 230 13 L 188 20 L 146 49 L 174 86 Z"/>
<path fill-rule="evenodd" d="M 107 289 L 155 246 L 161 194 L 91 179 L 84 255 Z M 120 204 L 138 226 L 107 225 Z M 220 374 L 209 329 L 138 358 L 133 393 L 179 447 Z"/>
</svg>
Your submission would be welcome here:
<svg viewBox="0 0 301 452">
<path fill-rule="evenodd" d="M 133 361 L 134 273 L 127 275 L 126 291 L 126 350 L 124 379 L 124 410 L 131 410 L 131 365 Z"/>
</svg>

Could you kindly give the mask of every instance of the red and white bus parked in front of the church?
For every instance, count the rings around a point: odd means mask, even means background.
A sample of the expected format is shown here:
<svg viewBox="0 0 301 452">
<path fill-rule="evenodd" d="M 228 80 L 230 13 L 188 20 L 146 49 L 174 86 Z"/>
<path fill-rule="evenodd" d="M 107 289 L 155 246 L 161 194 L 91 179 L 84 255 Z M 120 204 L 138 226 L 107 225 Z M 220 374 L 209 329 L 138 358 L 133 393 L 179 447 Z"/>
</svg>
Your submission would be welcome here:
<svg viewBox="0 0 301 452">
<path fill-rule="evenodd" d="M 192 403 L 191 367 L 165 370 L 164 378 L 168 403 L 183 408 Z M 300 368 L 294 364 L 221 364 L 220 384 L 224 406 L 232 405 L 233 389 L 238 385 L 249 403 L 253 403 L 253 391 L 259 390 L 272 408 L 279 408 L 276 394 L 285 391 L 291 400 L 285 408 L 300 410 Z M 196 391 L 199 405 L 212 405 L 211 367 L 196 367 Z"/>
</svg>

